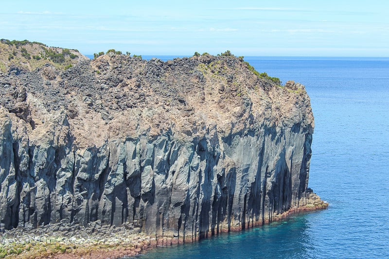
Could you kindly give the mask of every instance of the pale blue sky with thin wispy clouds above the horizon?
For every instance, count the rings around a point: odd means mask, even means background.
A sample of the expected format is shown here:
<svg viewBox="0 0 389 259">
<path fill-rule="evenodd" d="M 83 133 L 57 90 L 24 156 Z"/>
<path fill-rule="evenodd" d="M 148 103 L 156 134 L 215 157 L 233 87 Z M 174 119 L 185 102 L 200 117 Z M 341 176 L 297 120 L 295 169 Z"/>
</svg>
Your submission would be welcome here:
<svg viewBox="0 0 389 259">
<path fill-rule="evenodd" d="M 13 0 L 0 38 L 83 54 L 389 56 L 388 0 Z"/>
</svg>

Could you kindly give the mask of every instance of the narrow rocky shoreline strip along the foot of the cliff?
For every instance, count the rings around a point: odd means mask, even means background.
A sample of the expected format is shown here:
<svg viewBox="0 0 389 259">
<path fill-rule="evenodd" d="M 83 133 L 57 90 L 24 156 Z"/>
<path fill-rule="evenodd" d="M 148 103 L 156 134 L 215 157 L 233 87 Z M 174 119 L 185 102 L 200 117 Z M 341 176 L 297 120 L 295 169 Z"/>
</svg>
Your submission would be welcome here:
<svg viewBox="0 0 389 259">
<path fill-rule="evenodd" d="M 291 207 L 281 214 L 273 215 L 271 221 L 251 222 L 246 228 L 285 220 L 303 212 L 325 209 L 329 205 L 313 192 L 309 193 L 308 199 L 303 204 L 301 207 Z M 137 233 L 140 231 L 138 228 L 109 227 L 98 223 L 88 224 L 86 227 L 77 225 L 71 238 L 64 237 L 61 232 L 54 234 L 53 229 L 62 225 L 61 223 L 49 224 L 38 230 L 30 231 L 23 229 L 4 231 L 0 234 L 0 258 L 117 259 L 135 256 L 142 251 L 159 246 L 184 243 L 182 238 L 150 237 L 141 232 Z M 230 227 L 230 231 L 240 230 L 242 230 L 242 225 Z M 111 233 L 107 234 L 107 231 Z M 219 233 L 222 232 L 228 231 L 226 228 L 221 228 Z M 185 242 L 197 242 L 198 240 L 198 238 L 188 238 Z"/>
</svg>

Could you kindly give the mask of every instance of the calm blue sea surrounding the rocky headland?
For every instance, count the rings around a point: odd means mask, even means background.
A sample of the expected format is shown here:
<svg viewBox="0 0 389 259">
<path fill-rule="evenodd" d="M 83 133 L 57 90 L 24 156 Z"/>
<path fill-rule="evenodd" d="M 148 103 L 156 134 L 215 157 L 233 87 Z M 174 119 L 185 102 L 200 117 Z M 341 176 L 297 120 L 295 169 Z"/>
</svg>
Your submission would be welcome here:
<svg viewBox="0 0 389 259">
<path fill-rule="evenodd" d="M 245 60 L 306 86 L 315 115 L 309 187 L 330 207 L 137 258 L 389 258 L 389 58 Z"/>
</svg>

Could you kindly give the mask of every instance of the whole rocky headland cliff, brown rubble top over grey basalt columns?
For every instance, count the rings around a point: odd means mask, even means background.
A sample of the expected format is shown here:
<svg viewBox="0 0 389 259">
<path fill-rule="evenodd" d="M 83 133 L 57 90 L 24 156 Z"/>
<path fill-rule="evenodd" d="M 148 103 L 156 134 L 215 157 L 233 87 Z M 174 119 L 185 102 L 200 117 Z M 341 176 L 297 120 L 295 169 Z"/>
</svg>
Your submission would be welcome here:
<svg viewBox="0 0 389 259">
<path fill-rule="evenodd" d="M 298 83 L 278 86 L 224 55 L 7 64 L 3 228 L 99 221 L 192 241 L 312 198 L 314 118 Z"/>
</svg>

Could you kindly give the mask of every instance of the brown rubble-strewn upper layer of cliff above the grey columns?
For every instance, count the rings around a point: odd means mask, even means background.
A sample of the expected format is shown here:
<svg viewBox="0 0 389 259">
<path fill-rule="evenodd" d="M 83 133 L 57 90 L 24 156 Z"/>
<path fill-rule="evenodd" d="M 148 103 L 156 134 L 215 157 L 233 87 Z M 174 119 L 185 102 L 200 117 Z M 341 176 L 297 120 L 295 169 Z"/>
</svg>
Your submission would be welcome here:
<svg viewBox="0 0 389 259">
<path fill-rule="evenodd" d="M 245 132 L 264 120 L 313 128 L 304 86 L 281 86 L 229 51 L 166 62 L 111 51 L 90 60 L 76 50 L 2 39 L 0 53 L 0 113 L 25 121 L 36 138 L 52 124 L 70 127 L 81 146 L 172 129 L 194 138 L 216 125 Z"/>
</svg>

